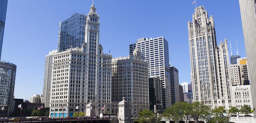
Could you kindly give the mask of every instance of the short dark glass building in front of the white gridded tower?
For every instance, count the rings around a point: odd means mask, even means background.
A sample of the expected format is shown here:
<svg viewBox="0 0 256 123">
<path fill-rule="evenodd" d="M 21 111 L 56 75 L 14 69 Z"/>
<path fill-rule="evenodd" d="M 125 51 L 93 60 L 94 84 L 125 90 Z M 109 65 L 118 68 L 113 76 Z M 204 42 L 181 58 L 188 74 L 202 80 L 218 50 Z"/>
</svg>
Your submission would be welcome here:
<svg viewBox="0 0 256 123">
<path fill-rule="evenodd" d="M 159 76 L 148 78 L 150 110 L 162 112 L 162 80 Z"/>
</svg>

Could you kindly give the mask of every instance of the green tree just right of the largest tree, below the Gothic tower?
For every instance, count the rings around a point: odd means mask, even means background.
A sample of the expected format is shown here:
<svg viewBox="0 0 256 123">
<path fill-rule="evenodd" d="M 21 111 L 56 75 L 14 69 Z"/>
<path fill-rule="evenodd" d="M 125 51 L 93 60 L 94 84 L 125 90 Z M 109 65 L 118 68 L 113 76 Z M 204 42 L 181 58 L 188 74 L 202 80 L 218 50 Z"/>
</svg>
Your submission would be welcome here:
<svg viewBox="0 0 256 123">
<path fill-rule="evenodd" d="M 219 106 L 217 108 L 212 109 L 213 118 L 210 118 L 211 123 L 228 123 L 229 117 L 224 116 L 226 113 L 226 109 L 223 106 Z"/>
</svg>

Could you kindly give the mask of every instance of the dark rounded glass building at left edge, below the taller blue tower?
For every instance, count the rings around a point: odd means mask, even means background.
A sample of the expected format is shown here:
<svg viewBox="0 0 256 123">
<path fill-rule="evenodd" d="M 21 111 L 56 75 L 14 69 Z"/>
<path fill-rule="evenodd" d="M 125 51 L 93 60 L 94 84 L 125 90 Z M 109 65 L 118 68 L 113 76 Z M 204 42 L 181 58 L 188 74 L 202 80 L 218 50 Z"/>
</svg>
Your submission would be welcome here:
<svg viewBox="0 0 256 123">
<path fill-rule="evenodd" d="M 9 117 L 13 108 L 16 67 L 13 63 L 0 62 L 0 107 L 4 107 L 0 116 L 3 117 Z"/>
</svg>

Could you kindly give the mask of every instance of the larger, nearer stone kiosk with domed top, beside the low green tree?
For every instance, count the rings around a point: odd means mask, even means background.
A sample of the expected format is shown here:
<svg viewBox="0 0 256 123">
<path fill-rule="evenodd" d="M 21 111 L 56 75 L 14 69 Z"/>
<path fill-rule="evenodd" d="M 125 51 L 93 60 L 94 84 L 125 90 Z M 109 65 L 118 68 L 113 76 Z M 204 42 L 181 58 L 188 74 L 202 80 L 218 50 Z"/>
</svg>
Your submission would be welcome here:
<svg viewBox="0 0 256 123">
<path fill-rule="evenodd" d="M 125 97 L 118 103 L 118 121 L 119 123 L 131 123 L 130 104 L 125 101 Z"/>
</svg>

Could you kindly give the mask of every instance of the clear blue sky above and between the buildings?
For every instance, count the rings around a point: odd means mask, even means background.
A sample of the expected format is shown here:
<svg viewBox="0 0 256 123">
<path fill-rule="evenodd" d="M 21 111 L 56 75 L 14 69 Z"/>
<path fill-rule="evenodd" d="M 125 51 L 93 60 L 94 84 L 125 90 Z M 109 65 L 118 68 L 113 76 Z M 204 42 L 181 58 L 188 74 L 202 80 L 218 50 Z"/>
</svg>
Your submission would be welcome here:
<svg viewBox="0 0 256 123">
<path fill-rule="evenodd" d="M 129 44 L 139 38 L 163 36 L 169 58 L 179 69 L 179 80 L 190 82 L 187 22 L 192 21 L 194 0 L 95 0 L 100 15 L 100 43 L 113 57 L 127 56 Z M 58 47 L 59 22 L 71 14 L 89 12 L 92 0 L 9 0 L 2 59 L 17 65 L 15 98 L 42 94 L 44 60 Z M 215 21 L 217 44 L 231 40 L 236 53 L 245 57 L 238 0 L 197 0 Z M 229 42 L 228 42 L 229 45 Z"/>
</svg>

